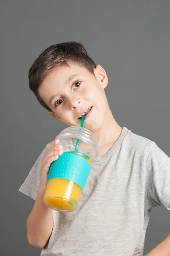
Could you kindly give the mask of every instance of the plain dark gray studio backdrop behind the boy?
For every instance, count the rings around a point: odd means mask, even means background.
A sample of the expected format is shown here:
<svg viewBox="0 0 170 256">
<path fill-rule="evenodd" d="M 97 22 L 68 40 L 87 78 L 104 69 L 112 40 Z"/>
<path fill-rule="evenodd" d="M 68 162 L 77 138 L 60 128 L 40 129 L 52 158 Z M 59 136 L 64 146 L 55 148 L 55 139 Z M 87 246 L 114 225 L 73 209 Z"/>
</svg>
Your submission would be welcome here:
<svg viewBox="0 0 170 256">
<path fill-rule="evenodd" d="M 170 156 L 170 1 L 0 2 L 0 255 L 36 256 L 26 238 L 34 201 L 18 192 L 48 142 L 66 126 L 39 105 L 28 69 L 51 44 L 79 41 L 101 64 L 113 116 Z M 170 233 L 170 212 L 152 210 L 144 253 Z"/>
</svg>

